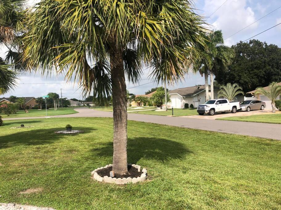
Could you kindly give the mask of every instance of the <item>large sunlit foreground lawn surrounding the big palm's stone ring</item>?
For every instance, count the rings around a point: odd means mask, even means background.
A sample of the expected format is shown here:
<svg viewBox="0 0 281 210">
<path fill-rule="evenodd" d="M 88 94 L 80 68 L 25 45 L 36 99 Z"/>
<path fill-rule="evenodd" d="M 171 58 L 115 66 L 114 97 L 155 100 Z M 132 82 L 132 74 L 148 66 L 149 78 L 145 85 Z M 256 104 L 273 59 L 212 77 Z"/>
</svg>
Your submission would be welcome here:
<svg viewBox="0 0 281 210">
<path fill-rule="evenodd" d="M 5 121 L 4 121 L 5 122 Z M 10 129 L 24 124 L 33 128 Z M 77 135 L 55 134 L 71 124 Z M 281 142 L 128 122 L 128 162 L 148 180 L 90 178 L 112 163 L 111 118 L 6 121 L 0 127 L 0 203 L 55 209 L 280 209 Z M 33 194 L 19 194 L 42 188 Z"/>
</svg>

